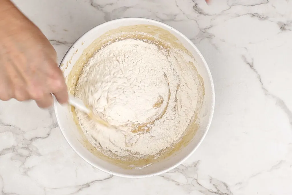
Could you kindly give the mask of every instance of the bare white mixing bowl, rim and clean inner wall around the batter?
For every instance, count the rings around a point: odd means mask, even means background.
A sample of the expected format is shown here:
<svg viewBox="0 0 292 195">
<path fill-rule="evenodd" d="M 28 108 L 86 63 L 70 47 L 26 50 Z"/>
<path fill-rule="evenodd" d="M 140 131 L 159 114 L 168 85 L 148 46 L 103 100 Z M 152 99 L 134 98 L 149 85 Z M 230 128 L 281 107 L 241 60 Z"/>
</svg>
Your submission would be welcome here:
<svg viewBox="0 0 292 195">
<path fill-rule="evenodd" d="M 181 148 L 179 151 L 173 153 L 171 156 L 157 162 L 153 163 L 150 166 L 147 166 L 142 169 L 124 169 L 117 165 L 108 163 L 105 160 L 102 160 L 91 153 L 87 147 L 82 144 L 82 136 L 80 130 L 77 129 L 75 125 L 72 113 L 68 106 L 61 106 L 55 100 L 55 113 L 57 116 L 57 120 L 59 123 L 59 127 L 68 141 L 69 145 L 72 149 L 85 161 L 89 164 L 93 165 L 94 167 L 107 172 L 112 175 L 117 175 L 121 177 L 132 177 L 132 178 L 139 178 L 139 177 L 149 177 L 153 175 L 159 175 L 161 173 L 167 172 L 181 164 L 185 161 L 200 145 L 208 128 L 210 126 L 213 111 L 214 111 L 214 103 L 215 103 L 215 96 L 214 96 L 214 86 L 213 80 L 211 77 L 210 70 L 204 57 L 199 52 L 197 47 L 182 33 L 175 30 L 173 27 L 170 27 L 164 23 L 158 22 L 156 20 L 150 20 L 146 18 L 121 18 L 117 20 L 111 20 L 109 22 L 103 23 L 94 27 L 93 29 L 86 32 L 82 35 L 67 51 L 65 57 L 63 58 L 61 65 L 66 65 L 67 67 L 63 69 L 64 76 L 67 75 L 72 70 L 75 62 L 79 59 L 84 49 L 86 49 L 95 39 L 100 37 L 102 34 L 106 33 L 109 30 L 116 29 L 122 26 L 131 26 L 131 25 L 154 25 L 160 27 L 164 30 L 167 30 L 171 34 L 173 34 L 182 44 L 183 46 L 190 51 L 193 57 L 197 61 L 197 71 L 201 75 L 204 80 L 204 88 L 205 88 L 205 95 L 204 95 L 204 103 L 203 109 L 201 109 L 201 113 L 199 116 L 199 129 L 197 130 L 195 136 L 191 139 L 189 144 Z M 78 52 L 76 52 L 78 49 Z"/>
</svg>

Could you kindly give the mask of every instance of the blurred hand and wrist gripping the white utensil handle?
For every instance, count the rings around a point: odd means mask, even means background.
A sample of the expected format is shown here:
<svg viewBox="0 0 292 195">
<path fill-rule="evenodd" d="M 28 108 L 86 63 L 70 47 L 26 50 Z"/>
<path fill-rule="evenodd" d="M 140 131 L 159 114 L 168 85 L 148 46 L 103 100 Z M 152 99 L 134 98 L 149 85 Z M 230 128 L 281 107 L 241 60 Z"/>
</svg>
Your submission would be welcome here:
<svg viewBox="0 0 292 195">
<path fill-rule="evenodd" d="M 0 2 L 0 99 L 33 99 L 41 108 L 68 99 L 57 55 L 48 39 L 10 1 Z"/>
</svg>

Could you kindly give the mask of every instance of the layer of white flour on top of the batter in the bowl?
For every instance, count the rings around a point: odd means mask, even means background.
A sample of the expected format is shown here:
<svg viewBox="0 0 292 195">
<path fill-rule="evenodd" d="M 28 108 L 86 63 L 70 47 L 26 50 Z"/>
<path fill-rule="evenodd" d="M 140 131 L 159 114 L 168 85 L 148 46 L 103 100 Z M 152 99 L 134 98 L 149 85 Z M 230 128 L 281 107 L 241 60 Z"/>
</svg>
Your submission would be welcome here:
<svg viewBox="0 0 292 195">
<path fill-rule="evenodd" d="M 180 140 L 197 104 L 196 75 L 184 56 L 127 39 L 100 49 L 84 66 L 75 96 L 116 128 L 76 111 L 95 147 L 118 156 L 156 155 Z"/>
</svg>

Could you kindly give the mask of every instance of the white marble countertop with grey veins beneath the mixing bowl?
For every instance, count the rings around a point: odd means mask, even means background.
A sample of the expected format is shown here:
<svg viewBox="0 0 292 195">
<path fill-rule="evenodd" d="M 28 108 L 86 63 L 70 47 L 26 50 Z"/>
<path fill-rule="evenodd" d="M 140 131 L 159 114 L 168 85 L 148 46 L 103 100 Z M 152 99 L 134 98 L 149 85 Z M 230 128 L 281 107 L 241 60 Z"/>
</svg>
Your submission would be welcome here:
<svg viewBox="0 0 292 195">
<path fill-rule="evenodd" d="M 15 0 L 59 61 L 84 32 L 128 16 L 169 24 L 211 69 L 215 113 L 199 149 L 145 179 L 111 177 L 83 161 L 53 111 L 0 102 L 0 192 L 56 194 L 292 194 L 292 0 Z"/>
</svg>

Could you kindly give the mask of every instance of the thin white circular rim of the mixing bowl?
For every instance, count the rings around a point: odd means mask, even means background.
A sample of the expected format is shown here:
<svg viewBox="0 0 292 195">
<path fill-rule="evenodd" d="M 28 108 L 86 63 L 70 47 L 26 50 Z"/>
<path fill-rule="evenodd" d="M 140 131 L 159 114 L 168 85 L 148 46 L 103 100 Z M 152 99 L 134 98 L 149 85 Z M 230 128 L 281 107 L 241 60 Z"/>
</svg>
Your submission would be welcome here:
<svg viewBox="0 0 292 195">
<path fill-rule="evenodd" d="M 197 150 L 197 148 L 201 145 L 202 141 L 205 139 L 206 137 L 206 134 L 210 128 L 210 125 L 211 125 L 211 122 L 212 122 L 212 119 L 213 119 L 213 114 L 214 114 L 214 109 L 215 109 L 215 90 L 214 90 L 214 83 L 213 83 L 213 78 L 212 78 L 212 75 L 211 75 L 211 71 L 208 67 L 208 64 L 205 60 L 205 58 L 203 57 L 203 55 L 201 54 L 201 52 L 199 51 L 199 49 L 194 45 L 194 43 L 189 39 L 187 38 L 183 33 L 181 33 L 180 31 L 176 30 L 174 27 L 171 27 L 163 22 L 160 22 L 158 20 L 153 20 L 153 19 L 149 19 L 149 18 L 142 18 L 142 17 L 125 17 L 125 18 L 118 18 L 118 19 L 114 19 L 114 20 L 109 20 L 107 22 L 104 22 L 104 23 L 101 23 L 93 28 L 91 28 L 90 30 L 86 31 L 84 34 L 82 34 L 71 46 L 70 48 L 68 49 L 68 51 L 65 53 L 64 57 L 62 58 L 62 61 L 60 62 L 59 66 L 64 63 L 65 61 L 65 58 L 67 57 L 68 53 L 73 49 L 73 47 L 76 45 L 76 43 L 81 39 L 83 38 L 84 36 L 86 36 L 86 34 L 88 34 L 89 32 L 93 31 L 95 28 L 100 28 L 104 25 L 108 25 L 110 23 L 116 23 L 117 21 L 120 21 L 120 22 L 123 22 L 125 20 L 140 20 L 140 21 L 148 21 L 148 22 L 151 22 L 152 24 L 159 24 L 159 25 L 162 25 L 164 26 L 166 29 L 170 29 L 171 31 L 174 31 L 176 32 L 179 36 L 181 36 L 183 39 L 185 39 L 194 49 L 195 51 L 197 52 L 197 54 L 199 54 L 200 58 L 202 59 L 203 63 L 204 63 L 204 66 L 207 70 L 207 73 L 208 73 L 208 77 L 210 79 L 210 83 L 211 83 L 211 110 L 210 110 L 210 114 L 209 114 L 209 118 L 208 118 L 208 124 L 206 126 L 206 130 L 202 136 L 202 138 L 200 139 L 200 141 L 198 142 L 197 146 L 194 147 L 192 149 L 192 151 L 190 151 L 190 153 L 188 155 L 186 155 L 182 160 L 178 161 L 177 163 L 175 163 L 174 165 L 172 165 L 171 167 L 169 168 L 166 168 L 166 169 L 162 169 L 160 171 L 157 171 L 157 172 L 154 172 L 152 174 L 143 174 L 143 175 L 131 175 L 131 174 L 121 174 L 121 173 L 117 173 L 117 172 L 112 172 L 110 170 L 107 170 L 107 169 L 104 169 L 102 167 L 99 167 L 98 165 L 96 165 L 95 163 L 91 162 L 90 160 L 88 160 L 82 153 L 78 152 L 77 151 L 77 147 L 73 146 L 69 141 L 68 141 L 68 138 L 67 138 L 67 135 L 66 133 L 64 132 L 64 128 L 62 128 L 62 125 L 60 125 L 60 119 L 59 119 L 59 116 L 58 116 L 58 111 L 57 111 L 57 107 L 56 107 L 56 104 L 58 103 L 57 99 L 54 97 L 54 111 L 55 111 L 55 115 L 56 115 L 56 118 L 57 118 L 57 122 L 58 122 L 58 125 L 59 125 L 59 128 L 63 134 L 63 136 L 65 137 L 65 140 L 67 141 L 67 143 L 69 144 L 69 146 L 74 150 L 75 153 L 77 153 L 78 156 L 80 156 L 84 161 L 86 161 L 87 163 L 89 163 L 90 165 L 92 165 L 93 167 L 105 172 L 105 173 L 108 173 L 110 175 L 114 175 L 114 176 L 119 176 L 119 177 L 126 177 L 126 178 L 145 178 L 145 177 L 151 177 L 151 176 L 156 176 L 156 175 L 160 175 L 160 174 L 163 174 L 165 172 L 168 172 L 169 170 L 172 170 L 174 168 L 176 168 L 178 165 L 182 164 L 187 158 L 189 158 L 193 153 L 194 151 Z"/>
</svg>

